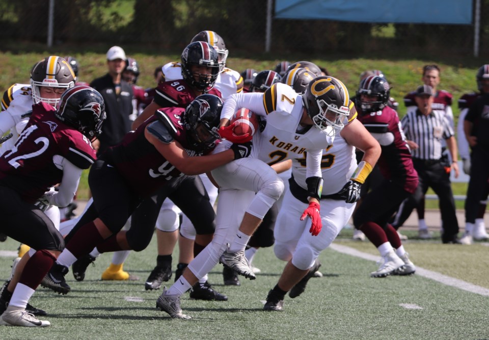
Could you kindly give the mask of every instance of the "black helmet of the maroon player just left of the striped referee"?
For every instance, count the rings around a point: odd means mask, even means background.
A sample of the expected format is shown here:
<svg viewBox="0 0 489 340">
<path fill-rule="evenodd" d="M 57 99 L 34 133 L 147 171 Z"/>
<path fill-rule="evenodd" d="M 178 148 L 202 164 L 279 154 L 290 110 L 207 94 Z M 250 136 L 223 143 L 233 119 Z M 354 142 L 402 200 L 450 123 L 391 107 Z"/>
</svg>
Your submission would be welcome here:
<svg viewBox="0 0 489 340">
<path fill-rule="evenodd" d="M 355 104 L 362 108 L 362 113 L 377 112 L 387 106 L 390 96 L 390 86 L 384 77 L 369 75 L 360 82 L 360 87 L 355 96 Z M 376 96 L 375 101 L 362 100 L 363 95 Z"/>
</svg>

